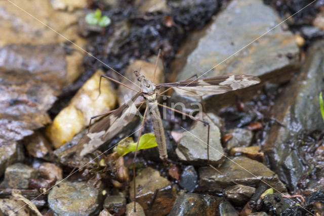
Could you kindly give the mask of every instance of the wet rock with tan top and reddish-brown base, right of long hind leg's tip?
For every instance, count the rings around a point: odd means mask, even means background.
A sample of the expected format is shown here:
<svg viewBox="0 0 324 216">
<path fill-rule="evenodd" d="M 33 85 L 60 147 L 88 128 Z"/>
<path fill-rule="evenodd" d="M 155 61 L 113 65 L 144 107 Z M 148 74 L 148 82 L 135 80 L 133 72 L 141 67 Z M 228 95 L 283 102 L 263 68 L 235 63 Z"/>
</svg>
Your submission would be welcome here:
<svg viewBox="0 0 324 216">
<path fill-rule="evenodd" d="M 134 186 L 130 183 L 130 199 L 134 200 Z M 171 182 L 161 177 L 158 171 L 146 168 L 136 176 L 136 201 L 143 207 L 146 215 L 168 214 L 176 199 Z"/>
</svg>

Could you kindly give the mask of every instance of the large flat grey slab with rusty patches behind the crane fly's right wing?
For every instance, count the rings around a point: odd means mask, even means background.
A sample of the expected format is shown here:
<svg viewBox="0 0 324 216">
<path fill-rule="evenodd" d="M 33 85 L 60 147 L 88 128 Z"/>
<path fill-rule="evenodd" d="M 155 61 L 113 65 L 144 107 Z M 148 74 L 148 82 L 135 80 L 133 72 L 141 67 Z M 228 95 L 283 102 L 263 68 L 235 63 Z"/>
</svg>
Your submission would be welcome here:
<svg viewBox="0 0 324 216">
<path fill-rule="evenodd" d="M 187 39 L 177 53 L 179 58 L 173 62 L 172 70 L 180 71 L 178 80 L 208 72 L 204 77 L 246 73 L 262 76 L 262 81 L 275 79 L 276 83 L 286 82 L 299 67 L 299 48 L 291 32 L 274 28 L 237 52 L 279 22 L 276 12 L 261 0 L 231 1 L 208 27 Z M 222 105 L 232 104 L 237 94 L 249 98 L 255 93 L 255 88 L 260 87 L 207 97 L 207 109 L 218 109 L 220 101 Z M 199 101 L 199 98 L 174 95 L 174 101 L 189 99 L 187 111 L 194 109 L 190 102 Z"/>
</svg>

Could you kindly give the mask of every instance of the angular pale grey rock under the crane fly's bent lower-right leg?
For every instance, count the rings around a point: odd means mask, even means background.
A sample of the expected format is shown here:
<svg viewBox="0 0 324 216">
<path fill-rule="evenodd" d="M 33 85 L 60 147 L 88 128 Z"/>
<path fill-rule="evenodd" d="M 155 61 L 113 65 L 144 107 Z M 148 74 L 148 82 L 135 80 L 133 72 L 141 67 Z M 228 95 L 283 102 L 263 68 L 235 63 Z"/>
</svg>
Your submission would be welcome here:
<svg viewBox="0 0 324 216">
<path fill-rule="evenodd" d="M 202 114 L 200 117 L 199 114 Z M 213 121 L 204 113 L 199 113 L 195 117 L 210 123 L 210 163 L 220 164 L 223 161 L 224 150 L 220 141 L 220 132 Z M 179 159 L 191 164 L 207 163 L 207 136 L 208 127 L 199 121 L 195 121 L 189 132 L 183 132 L 183 136 L 178 143 L 176 153 Z"/>
</svg>

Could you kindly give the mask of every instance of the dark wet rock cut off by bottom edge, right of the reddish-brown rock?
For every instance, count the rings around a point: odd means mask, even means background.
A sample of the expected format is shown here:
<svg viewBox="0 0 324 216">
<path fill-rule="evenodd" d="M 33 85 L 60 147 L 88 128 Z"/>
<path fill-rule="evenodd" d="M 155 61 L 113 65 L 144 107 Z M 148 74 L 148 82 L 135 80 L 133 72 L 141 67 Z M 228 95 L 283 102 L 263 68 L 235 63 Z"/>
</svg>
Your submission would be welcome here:
<svg viewBox="0 0 324 216">
<path fill-rule="evenodd" d="M 175 201 L 169 216 L 211 216 L 216 215 L 215 210 L 221 198 L 196 193 L 181 194 Z"/>
</svg>

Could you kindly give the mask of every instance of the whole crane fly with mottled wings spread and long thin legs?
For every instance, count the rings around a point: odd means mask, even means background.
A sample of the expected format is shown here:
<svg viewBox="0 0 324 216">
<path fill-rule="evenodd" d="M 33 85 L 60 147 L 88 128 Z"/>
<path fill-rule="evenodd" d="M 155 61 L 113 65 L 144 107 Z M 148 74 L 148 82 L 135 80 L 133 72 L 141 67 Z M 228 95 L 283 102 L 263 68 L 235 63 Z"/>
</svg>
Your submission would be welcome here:
<svg viewBox="0 0 324 216">
<path fill-rule="evenodd" d="M 157 67 L 157 61 L 155 63 L 154 77 L 155 77 L 156 67 Z M 80 139 L 80 141 L 77 143 L 76 146 L 76 154 L 78 156 L 84 156 L 87 153 L 90 153 L 94 149 L 98 148 L 102 143 L 113 138 L 123 127 L 125 127 L 135 117 L 135 115 L 137 114 L 137 105 L 140 105 L 145 102 L 142 101 L 140 103 L 135 104 L 135 101 L 139 96 L 143 96 L 146 99 L 146 108 L 145 108 L 141 128 L 139 131 L 137 147 L 133 159 L 134 203 L 135 203 L 136 184 L 135 184 L 135 164 L 134 163 L 137 155 L 139 140 L 142 134 L 142 128 L 148 111 L 152 118 L 153 131 L 157 143 L 159 157 L 164 161 L 164 163 L 168 158 L 168 153 L 167 153 L 165 132 L 164 132 L 161 116 L 158 110 L 158 106 L 163 106 L 169 110 L 188 116 L 191 119 L 200 121 L 208 126 L 207 154 L 208 154 L 208 164 L 209 164 L 209 131 L 210 131 L 209 123 L 199 118 L 188 115 L 186 113 L 182 113 L 169 106 L 158 103 L 157 97 L 159 95 L 163 94 L 164 92 L 168 91 L 171 88 L 174 89 L 177 93 L 186 96 L 201 97 L 204 95 L 222 94 L 225 92 L 255 85 L 260 82 L 260 79 L 258 77 L 251 76 L 251 75 L 228 75 L 228 76 L 196 78 L 196 79 L 192 79 L 194 77 L 192 76 L 184 81 L 154 84 L 152 81 L 150 81 L 149 79 L 141 75 L 138 71 L 134 71 L 134 73 L 137 77 L 137 80 L 140 82 L 140 88 L 141 88 L 140 91 L 137 91 L 137 93 L 128 102 L 119 106 L 118 109 L 92 117 L 91 119 L 94 119 L 109 114 L 102 121 L 100 121 L 94 127 L 89 129 L 88 133 L 82 139 Z M 118 84 L 124 85 L 127 88 L 132 89 L 131 87 L 123 83 L 120 83 L 110 77 L 101 75 L 100 81 L 101 78 L 109 79 Z M 169 88 L 161 93 L 158 93 L 158 90 L 162 87 L 169 87 Z M 132 90 L 136 91 L 135 89 Z M 99 84 L 99 93 L 100 93 L 100 84 Z M 90 125 L 91 125 L 91 120 L 90 120 L 89 128 Z M 134 210 L 136 211 L 135 204 L 134 204 Z"/>
</svg>

